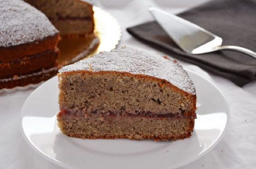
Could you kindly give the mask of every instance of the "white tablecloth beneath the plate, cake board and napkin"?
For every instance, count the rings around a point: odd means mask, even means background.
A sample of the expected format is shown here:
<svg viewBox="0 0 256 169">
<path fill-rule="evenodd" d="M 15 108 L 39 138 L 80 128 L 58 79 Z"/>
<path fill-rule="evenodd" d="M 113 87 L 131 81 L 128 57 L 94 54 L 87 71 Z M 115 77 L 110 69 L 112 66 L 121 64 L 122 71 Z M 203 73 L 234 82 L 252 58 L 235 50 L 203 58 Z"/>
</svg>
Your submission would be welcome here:
<svg viewBox="0 0 256 169">
<path fill-rule="evenodd" d="M 118 47 L 127 45 L 153 50 L 131 37 L 126 28 L 152 20 L 147 12 L 148 7 L 158 6 L 176 13 L 204 1 L 159 0 L 156 3 L 150 0 L 101 0 L 101 7 L 116 17 L 122 27 L 123 37 Z M 226 96 L 231 108 L 230 125 L 223 140 L 208 154 L 181 168 L 255 168 L 256 82 L 240 88 L 229 80 L 208 74 L 195 65 L 180 63 L 216 84 Z M 21 136 L 20 110 L 32 91 L 33 89 L 0 94 L 0 169 L 61 168 L 35 153 Z"/>
</svg>

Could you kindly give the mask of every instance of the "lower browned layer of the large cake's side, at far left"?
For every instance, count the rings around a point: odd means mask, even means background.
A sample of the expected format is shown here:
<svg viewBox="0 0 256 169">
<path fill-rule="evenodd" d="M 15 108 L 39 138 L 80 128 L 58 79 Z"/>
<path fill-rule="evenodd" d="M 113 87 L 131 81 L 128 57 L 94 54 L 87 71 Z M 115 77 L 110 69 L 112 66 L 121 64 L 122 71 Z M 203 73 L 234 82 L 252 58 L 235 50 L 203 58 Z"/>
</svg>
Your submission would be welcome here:
<svg viewBox="0 0 256 169">
<path fill-rule="evenodd" d="M 13 77 L 14 75 L 24 75 L 42 68 L 51 68 L 57 65 L 59 50 L 46 50 L 44 52 L 22 57 L 12 62 L 0 62 L 0 78 Z"/>
</svg>

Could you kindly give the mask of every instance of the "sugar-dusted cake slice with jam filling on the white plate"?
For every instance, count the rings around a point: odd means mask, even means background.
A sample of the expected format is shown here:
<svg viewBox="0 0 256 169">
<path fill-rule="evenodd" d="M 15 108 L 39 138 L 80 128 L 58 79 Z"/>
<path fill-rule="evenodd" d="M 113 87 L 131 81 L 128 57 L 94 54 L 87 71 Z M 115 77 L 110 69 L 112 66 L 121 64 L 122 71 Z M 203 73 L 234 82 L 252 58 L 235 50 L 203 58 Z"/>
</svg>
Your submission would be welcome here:
<svg viewBox="0 0 256 169">
<path fill-rule="evenodd" d="M 78 138 L 189 137 L 196 92 L 176 61 L 121 48 L 59 70 L 61 131 Z"/>
</svg>

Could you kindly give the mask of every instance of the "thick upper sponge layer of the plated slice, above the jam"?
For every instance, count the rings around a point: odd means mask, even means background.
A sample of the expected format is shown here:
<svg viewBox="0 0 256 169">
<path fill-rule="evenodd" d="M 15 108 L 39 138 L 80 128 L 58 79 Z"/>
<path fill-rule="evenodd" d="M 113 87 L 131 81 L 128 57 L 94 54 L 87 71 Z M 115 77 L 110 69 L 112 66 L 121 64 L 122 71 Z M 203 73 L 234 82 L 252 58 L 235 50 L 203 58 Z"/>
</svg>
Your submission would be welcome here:
<svg viewBox="0 0 256 169">
<path fill-rule="evenodd" d="M 195 95 L 152 76 L 76 71 L 59 73 L 59 79 L 60 110 L 194 116 L 196 109 Z"/>
</svg>

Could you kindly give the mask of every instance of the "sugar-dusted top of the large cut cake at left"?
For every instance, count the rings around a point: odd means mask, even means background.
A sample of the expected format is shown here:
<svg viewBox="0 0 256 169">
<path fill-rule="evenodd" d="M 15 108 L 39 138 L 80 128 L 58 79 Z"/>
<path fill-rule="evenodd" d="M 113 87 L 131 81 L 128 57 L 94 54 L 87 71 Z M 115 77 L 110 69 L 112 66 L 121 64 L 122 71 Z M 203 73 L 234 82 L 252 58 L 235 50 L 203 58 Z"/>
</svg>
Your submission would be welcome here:
<svg viewBox="0 0 256 169">
<path fill-rule="evenodd" d="M 54 36 L 58 30 L 39 10 L 22 0 L 0 0 L 0 47 Z"/>
</svg>

